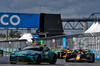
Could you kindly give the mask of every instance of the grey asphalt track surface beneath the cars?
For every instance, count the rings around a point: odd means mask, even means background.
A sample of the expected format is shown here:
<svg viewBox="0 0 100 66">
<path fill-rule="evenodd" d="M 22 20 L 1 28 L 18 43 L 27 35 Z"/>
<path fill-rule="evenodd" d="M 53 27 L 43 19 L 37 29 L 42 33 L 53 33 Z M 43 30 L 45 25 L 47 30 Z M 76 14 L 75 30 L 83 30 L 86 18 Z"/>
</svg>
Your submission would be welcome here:
<svg viewBox="0 0 100 66">
<path fill-rule="evenodd" d="M 10 64 L 8 62 L 8 57 L 0 58 L 0 66 L 100 66 L 100 60 L 96 60 L 95 63 L 87 63 L 87 62 L 65 62 L 64 59 L 57 59 L 56 64 L 51 65 L 49 63 L 41 63 L 41 64 Z"/>
</svg>

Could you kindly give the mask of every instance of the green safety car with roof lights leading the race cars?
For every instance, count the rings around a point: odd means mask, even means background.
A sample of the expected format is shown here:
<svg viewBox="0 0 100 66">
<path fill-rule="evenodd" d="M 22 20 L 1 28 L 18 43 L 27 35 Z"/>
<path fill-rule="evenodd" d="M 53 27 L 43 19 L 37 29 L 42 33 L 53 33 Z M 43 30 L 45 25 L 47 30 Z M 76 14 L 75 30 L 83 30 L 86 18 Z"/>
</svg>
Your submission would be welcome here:
<svg viewBox="0 0 100 66">
<path fill-rule="evenodd" d="M 31 45 L 24 47 L 19 51 L 12 52 L 10 54 L 10 63 L 16 64 L 19 62 L 24 63 L 36 63 L 47 62 L 50 64 L 55 64 L 57 61 L 56 53 L 51 51 L 46 46 L 41 45 Z"/>
</svg>

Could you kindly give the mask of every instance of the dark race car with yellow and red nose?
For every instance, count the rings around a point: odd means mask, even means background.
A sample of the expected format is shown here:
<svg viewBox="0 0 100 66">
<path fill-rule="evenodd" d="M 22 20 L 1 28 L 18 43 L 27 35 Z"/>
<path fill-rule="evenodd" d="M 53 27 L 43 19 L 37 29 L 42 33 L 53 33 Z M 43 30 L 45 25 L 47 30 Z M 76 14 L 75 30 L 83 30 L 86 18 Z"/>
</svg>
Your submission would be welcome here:
<svg viewBox="0 0 100 66">
<path fill-rule="evenodd" d="M 73 53 L 66 54 L 65 61 L 66 62 L 87 61 L 87 62 L 93 63 L 93 62 L 95 62 L 95 54 L 90 53 L 89 50 L 78 50 L 78 51 L 75 50 Z"/>
</svg>

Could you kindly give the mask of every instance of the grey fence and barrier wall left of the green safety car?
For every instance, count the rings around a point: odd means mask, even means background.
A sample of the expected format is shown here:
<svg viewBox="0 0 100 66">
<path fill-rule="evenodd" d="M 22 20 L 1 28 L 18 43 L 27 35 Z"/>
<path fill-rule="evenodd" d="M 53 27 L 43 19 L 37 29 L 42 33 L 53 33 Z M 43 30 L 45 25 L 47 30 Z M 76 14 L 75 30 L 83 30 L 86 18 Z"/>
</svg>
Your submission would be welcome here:
<svg viewBox="0 0 100 66">
<path fill-rule="evenodd" d="M 0 56 L 10 56 L 10 53 L 27 46 L 26 40 L 0 41 Z"/>
</svg>

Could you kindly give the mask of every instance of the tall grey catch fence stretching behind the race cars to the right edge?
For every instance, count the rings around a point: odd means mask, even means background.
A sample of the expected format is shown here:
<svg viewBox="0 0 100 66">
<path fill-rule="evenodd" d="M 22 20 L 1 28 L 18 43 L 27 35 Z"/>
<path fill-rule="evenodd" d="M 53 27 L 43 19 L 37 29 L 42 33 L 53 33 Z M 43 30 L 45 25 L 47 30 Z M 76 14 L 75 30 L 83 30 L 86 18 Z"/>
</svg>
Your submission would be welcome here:
<svg viewBox="0 0 100 66">
<path fill-rule="evenodd" d="M 53 47 L 53 44 L 55 43 L 55 48 L 61 48 L 63 47 L 63 38 L 66 38 L 66 46 L 70 49 L 82 48 L 89 50 L 100 50 L 100 33 L 53 36 L 40 38 L 36 41 L 40 42 L 43 40 L 43 44 L 46 44 L 48 47 Z"/>
</svg>

